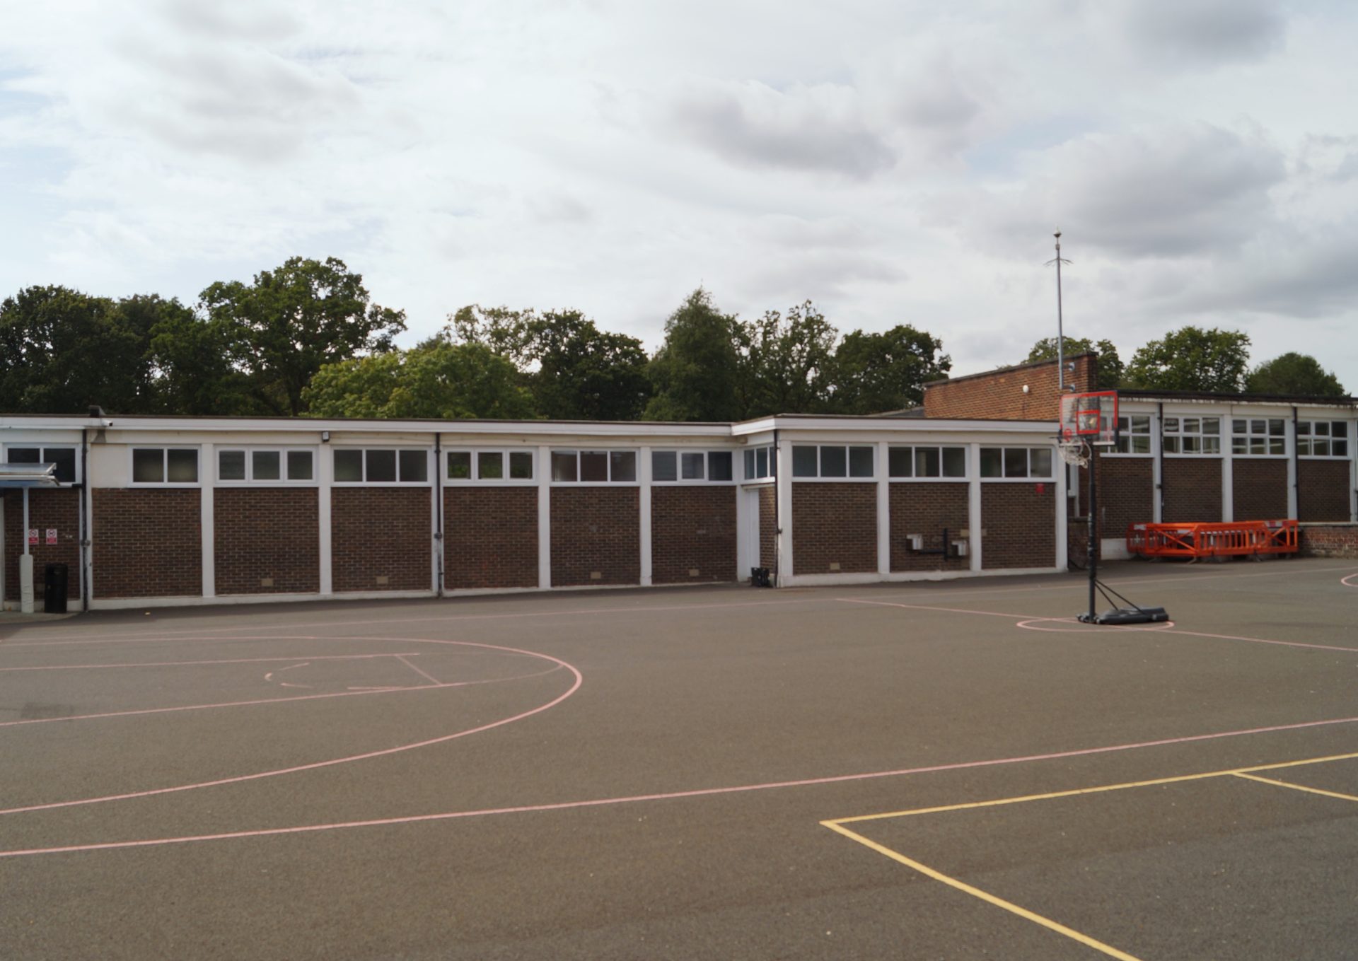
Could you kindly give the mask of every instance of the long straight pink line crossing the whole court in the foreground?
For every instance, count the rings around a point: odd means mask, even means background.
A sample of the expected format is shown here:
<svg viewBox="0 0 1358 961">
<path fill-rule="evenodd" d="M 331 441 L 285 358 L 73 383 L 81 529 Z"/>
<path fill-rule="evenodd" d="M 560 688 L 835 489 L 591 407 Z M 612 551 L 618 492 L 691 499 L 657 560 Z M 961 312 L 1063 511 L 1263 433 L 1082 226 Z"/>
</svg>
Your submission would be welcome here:
<svg viewBox="0 0 1358 961">
<path fill-rule="evenodd" d="M 539 707 L 538 710 L 546 710 Z M 1247 728 L 1243 730 L 1225 730 L 1211 734 L 1188 734 L 1186 737 L 1167 737 L 1156 741 L 1137 741 L 1134 744 L 1114 744 L 1103 748 L 1077 748 L 1074 751 L 1057 751 L 1043 755 L 1024 755 L 1019 757 L 995 757 L 979 761 L 957 761 L 953 764 L 930 764 L 928 767 L 907 767 L 895 771 L 870 771 L 868 774 L 839 774 L 827 778 L 803 778 L 799 780 L 773 780 L 759 785 L 739 785 L 732 787 L 699 787 L 689 791 L 665 791 L 659 794 L 633 794 L 630 797 L 595 798 L 591 801 L 559 801 L 555 804 L 517 805 L 512 808 L 481 808 L 475 810 L 451 810 L 436 814 L 409 814 L 405 817 L 382 817 L 364 821 L 335 821 L 331 824 L 301 824 L 291 828 L 263 828 L 255 831 L 228 831 L 212 835 L 186 835 L 179 837 L 148 837 L 144 840 L 105 842 L 100 844 L 67 844 L 62 847 L 33 847 L 11 851 L 0 851 L 0 858 L 26 858 L 39 854 L 75 854 L 86 851 L 113 851 L 129 847 L 162 847 L 166 844 L 191 844 L 197 842 L 232 840 L 242 837 L 274 837 L 278 835 L 300 835 L 318 831 L 348 831 L 353 828 L 378 828 L 399 824 L 420 824 L 425 821 L 449 821 L 463 817 L 492 817 L 497 814 L 526 814 L 553 810 L 573 810 L 579 808 L 603 808 L 610 805 L 641 804 L 645 801 L 676 801 L 683 798 L 716 797 L 721 794 L 743 794 L 750 791 L 781 790 L 786 787 L 813 787 L 818 785 L 838 785 L 853 780 L 872 780 L 876 778 L 902 778 L 915 774 L 936 774 L 940 771 L 963 771 L 979 767 L 998 767 L 1005 764 L 1027 764 L 1032 761 L 1061 760 L 1063 757 L 1081 757 L 1088 755 L 1111 753 L 1115 751 L 1135 751 L 1141 748 L 1158 748 L 1173 744 L 1190 744 L 1194 741 L 1210 741 L 1222 737 L 1243 737 L 1247 734 L 1267 734 L 1283 730 L 1301 730 L 1304 728 L 1324 728 L 1329 725 L 1354 723 L 1358 717 L 1334 718 L 1328 721 L 1301 721 L 1298 723 L 1271 725 L 1268 728 Z M 500 722 L 507 723 L 507 722 Z"/>
</svg>

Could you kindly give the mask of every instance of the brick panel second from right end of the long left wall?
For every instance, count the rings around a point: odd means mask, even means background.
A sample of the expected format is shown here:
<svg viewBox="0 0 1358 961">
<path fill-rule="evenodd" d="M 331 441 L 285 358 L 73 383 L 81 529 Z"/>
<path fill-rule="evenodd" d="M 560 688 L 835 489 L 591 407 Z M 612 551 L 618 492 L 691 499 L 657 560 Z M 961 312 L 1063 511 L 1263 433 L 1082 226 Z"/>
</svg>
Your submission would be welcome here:
<svg viewBox="0 0 1358 961">
<path fill-rule="evenodd" d="M 641 489 L 553 487 L 551 586 L 640 582 Z"/>
</svg>

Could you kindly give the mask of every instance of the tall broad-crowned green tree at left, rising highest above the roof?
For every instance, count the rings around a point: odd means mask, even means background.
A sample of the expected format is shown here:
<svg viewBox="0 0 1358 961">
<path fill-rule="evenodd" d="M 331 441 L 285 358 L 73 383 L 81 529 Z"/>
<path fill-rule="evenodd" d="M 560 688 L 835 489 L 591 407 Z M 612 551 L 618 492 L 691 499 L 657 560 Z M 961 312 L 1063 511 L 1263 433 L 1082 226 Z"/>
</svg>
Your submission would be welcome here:
<svg viewBox="0 0 1358 961">
<path fill-rule="evenodd" d="M 344 261 L 289 258 L 254 284 L 217 282 L 201 295 L 210 322 L 228 334 L 232 364 L 269 411 L 297 415 L 301 394 L 326 364 L 392 349 L 405 312 L 371 303 Z"/>
</svg>

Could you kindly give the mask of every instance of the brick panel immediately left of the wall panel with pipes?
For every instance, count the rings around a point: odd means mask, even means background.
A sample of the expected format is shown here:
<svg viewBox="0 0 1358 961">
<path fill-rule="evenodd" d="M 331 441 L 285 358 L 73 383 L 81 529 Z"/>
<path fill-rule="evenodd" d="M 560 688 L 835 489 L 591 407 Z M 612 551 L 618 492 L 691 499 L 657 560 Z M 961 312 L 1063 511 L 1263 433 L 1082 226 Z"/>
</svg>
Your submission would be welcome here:
<svg viewBox="0 0 1358 961">
<path fill-rule="evenodd" d="M 877 570 L 877 485 L 793 483 L 792 567 L 797 574 Z"/>
</svg>

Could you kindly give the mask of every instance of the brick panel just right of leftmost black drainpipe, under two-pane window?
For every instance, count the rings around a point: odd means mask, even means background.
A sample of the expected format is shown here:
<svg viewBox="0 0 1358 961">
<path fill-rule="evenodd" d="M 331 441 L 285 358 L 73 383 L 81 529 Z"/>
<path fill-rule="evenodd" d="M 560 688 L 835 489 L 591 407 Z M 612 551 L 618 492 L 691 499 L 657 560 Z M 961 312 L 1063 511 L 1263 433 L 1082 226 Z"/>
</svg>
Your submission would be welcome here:
<svg viewBox="0 0 1358 961">
<path fill-rule="evenodd" d="M 95 597 L 202 595 L 202 491 L 197 487 L 91 493 Z"/>
</svg>

